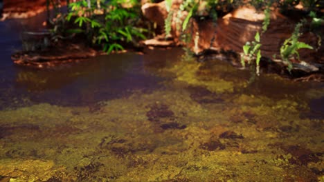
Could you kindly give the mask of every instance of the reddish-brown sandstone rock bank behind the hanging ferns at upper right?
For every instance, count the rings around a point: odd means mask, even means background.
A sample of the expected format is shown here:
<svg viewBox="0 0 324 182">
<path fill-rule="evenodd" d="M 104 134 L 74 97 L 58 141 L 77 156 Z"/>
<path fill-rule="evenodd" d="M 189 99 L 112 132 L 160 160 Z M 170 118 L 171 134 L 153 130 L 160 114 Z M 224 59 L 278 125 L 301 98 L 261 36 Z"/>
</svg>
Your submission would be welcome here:
<svg viewBox="0 0 324 182">
<path fill-rule="evenodd" d="M 176 10 L 178 6 L 172 7 Z M 156 22 L 160 27 L 164 27 L 164 19 L 168 14 L 165 10 L 164 1 L 161 3 L 146 3 L 142 10 L 147 19 Z M 176 13 L 174 13 L 175 16 L 177 16 Z M 189 24 L 192 28 L 187 30 L 186 33 L 191 35 L 192 41 L 188 45 L 196 54 L 205 50 L 231 50 L 240 53 L 246 41 L 253 41 L 255 33 L 262 30 L 263 19 L 263 12 L 257 12 L 254 8 L 248 7 L 234 10 L 224 17 L 217 19 L 217 22 L 191 19 Z M 179 44 L 177 41 L 179 41 L 181 32 L 176 30 L 176 22 L 174 20 L 175 18 L 172 19 L 172 38 L 176 41 L 176 44 Z M 261 37 L 262 57 L 272 58 L 274 54 L 279 56 L 280 46 L 285 39 L 291 37 L 295 26 L 295 21 L 273 10 L 271 12 L 269 28 Z M 307 32 L 303 34 L 300 37 L 300 41 L 304 41 L 314 48 L 318 47 L 318 37 L 313 33 Z M 298 52 L 300 53 L 300 59 L 303 61 L 324 63 L 323 46 L 317 50 L 302 49 Z"/>
</svg>

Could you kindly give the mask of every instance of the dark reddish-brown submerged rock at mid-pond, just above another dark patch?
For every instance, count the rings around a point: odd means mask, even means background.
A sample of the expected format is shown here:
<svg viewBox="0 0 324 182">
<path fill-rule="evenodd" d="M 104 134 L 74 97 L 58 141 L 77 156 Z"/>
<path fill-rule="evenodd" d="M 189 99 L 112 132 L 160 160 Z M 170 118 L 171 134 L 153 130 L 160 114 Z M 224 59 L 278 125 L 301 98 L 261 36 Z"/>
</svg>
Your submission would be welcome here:
<svg viewBox="0 0 324 182">
<path fill-rule="evenodd" d="M 174 112 L 169 110 L 168 105 L 163 103 L 150 106 L 150 111 L 146 113 L 149 121 L 159 122 L 160 119 L 174 117 Z"/>
</svg>

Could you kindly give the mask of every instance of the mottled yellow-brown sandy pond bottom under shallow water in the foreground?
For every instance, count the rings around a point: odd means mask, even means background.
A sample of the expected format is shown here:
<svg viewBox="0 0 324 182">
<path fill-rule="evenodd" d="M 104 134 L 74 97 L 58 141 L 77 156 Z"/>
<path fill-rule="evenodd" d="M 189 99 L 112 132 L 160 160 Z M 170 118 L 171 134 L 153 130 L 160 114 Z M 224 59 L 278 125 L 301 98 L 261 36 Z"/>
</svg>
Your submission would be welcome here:
<svg viewBox="0 0 324 182">
<path fill-rule="evenodd" d="M 1 110 L 0 181 L 324 180 L 322 83 L 249 85 L 217 60 L 154 62 L 167 52 L 141 60 L 160 78 L 152 89 Z"/>
</svg>

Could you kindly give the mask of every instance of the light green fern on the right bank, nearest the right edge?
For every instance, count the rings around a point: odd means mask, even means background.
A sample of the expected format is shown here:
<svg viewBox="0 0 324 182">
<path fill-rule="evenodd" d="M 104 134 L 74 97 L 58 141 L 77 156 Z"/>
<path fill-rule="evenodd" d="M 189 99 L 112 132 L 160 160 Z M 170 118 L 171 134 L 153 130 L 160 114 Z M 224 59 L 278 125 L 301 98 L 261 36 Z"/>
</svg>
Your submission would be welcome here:
<svg viewBox="0 0 324 182">
<path fill-rule="evenodd" d="M 290 59 L 297 57 L 299 60 L 299 54 L 298 50 L 302 48 L 307 49 L 313 49 L 311 45 L 308 45 L 307 43 L 298 41 L 298 38 L 300 37 L 300 28 L 303 26 L 303 22 L 297 23 L 294 32 L 292 33 L 291 37 L 289 39 L 286 39 L 285 42 L 280 47 L 280 56 L 282 61 L 287 63 L 288 67 L 287 69 L 292 69 L 292 63 Z"/>
</svg>

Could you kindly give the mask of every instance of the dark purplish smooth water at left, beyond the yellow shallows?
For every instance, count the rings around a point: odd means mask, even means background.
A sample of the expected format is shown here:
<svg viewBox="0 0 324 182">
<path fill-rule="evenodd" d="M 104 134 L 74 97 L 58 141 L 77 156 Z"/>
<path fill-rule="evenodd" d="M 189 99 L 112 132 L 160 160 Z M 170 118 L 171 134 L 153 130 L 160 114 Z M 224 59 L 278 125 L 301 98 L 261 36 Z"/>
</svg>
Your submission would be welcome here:
<svg viewBox="0 0 324 182">
<path fill-rule="evenodd" d="M 42 13 L 30 19 L 0 22 L 0 109 L 35 103 L 88 105 L 126 97 L 134 90 L 148 92 L 161 88 L 159 82 L 163 79 L 150 72 L 165 66 L 163 60 L 174 56 L 174 51 L 166 54 L 157 50 L 144 56 L 111 54 L 60 70 L 33 70 L 13 65 L 10 56 L 21 50 L 21 33 L 42 30 L 39 22 L 44 22 L 45 17 Z M 151 64 L 150 59 L 159 59 L 161 64 L 155 61 Z"/>
</svg>

